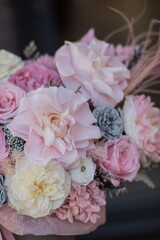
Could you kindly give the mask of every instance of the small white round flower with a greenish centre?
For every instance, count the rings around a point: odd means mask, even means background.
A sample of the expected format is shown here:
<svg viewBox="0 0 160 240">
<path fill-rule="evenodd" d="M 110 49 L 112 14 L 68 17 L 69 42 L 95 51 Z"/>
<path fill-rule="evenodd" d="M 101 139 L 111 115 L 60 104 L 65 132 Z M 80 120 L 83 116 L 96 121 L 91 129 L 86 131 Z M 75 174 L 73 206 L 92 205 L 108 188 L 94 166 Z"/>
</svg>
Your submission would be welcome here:
<svg viewBox="0 0 160 240">
<path fill-rule="evenodd" d="M 84 158 L 77 168 L 69 170 L 72 182 L 78 185 L 88 185 L 94 179 L 96 164 L 91 158 Z"/>
</svg>

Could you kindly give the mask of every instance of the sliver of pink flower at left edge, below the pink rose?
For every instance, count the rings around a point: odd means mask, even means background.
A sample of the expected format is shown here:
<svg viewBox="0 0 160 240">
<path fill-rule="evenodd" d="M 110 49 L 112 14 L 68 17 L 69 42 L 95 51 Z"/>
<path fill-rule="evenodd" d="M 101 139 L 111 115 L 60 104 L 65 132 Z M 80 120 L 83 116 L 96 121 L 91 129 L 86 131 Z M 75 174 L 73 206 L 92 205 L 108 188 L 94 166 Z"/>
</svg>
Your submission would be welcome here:
<svg viewBox="0 0 160 240">
<path fill-rule="evenodd" d="M 3 160 L 8 157 L 9 154 L 9 146 L 5 143 L 5 134 L 0 128 L 0 165 Z"/>
</svg>

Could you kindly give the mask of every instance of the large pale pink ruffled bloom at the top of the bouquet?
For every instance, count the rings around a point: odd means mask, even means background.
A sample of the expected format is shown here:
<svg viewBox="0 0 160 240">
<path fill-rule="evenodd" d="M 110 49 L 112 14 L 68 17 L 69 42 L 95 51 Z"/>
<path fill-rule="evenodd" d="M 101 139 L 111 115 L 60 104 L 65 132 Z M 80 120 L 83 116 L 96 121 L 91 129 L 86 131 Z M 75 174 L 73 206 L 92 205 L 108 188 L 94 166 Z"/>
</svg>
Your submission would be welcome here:
<svg viewBox="0 0 160 240">
<path fill-rule="evenodd" d="M 109 44 L 92 35 L 80 42 L 65 42 L 55 55 L 64 85 L 90 98 L 94 106 L 115 106 L 123 97 L 130 73 L 116 58 L 107 54 Z"/>
</svg>

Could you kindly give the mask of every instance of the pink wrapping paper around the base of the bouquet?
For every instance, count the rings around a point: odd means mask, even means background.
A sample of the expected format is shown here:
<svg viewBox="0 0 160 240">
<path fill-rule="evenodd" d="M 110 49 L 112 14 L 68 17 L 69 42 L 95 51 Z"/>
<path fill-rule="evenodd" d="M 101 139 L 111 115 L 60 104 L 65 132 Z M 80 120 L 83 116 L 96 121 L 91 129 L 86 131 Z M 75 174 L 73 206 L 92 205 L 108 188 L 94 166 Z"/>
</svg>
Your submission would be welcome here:
<svg viewBox="0 0 160 240">
<path fill-rule="evenodd" d="M 106 208 L 101 207 L 100 219 L 96 224 L 81 223 L 75 221 L 70 223 L 62 221 L 56 216 L 46 216 L 43 218 L 31 218 L 18 213 L 12 208 L 4 205 L 0 209 L 0 225 L 17 235 L 81 235 L 94 231 L 99 225 L 105 223 Z"/>
</svg>

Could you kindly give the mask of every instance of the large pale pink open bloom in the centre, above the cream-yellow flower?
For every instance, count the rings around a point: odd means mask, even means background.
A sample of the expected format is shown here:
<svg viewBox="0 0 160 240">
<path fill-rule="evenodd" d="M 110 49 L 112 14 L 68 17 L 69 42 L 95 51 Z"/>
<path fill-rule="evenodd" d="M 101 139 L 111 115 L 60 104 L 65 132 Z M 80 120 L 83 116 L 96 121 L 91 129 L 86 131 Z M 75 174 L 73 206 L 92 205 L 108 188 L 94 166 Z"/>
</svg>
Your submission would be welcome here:
<svg viewBox="0 0 160 240">
<path fill-rule="evenodd" d="M 70 167 L 86 156 L 90 140 L 100 137 L 87 99 L 64 87 L 39 88 L 23 98 L 9 125 L 26 141 L 29 159 L 47 164 L 51 159 Z"/>
</svg>

